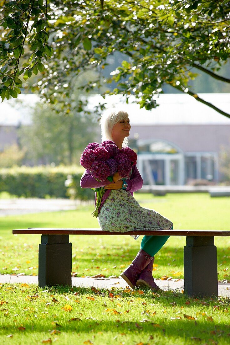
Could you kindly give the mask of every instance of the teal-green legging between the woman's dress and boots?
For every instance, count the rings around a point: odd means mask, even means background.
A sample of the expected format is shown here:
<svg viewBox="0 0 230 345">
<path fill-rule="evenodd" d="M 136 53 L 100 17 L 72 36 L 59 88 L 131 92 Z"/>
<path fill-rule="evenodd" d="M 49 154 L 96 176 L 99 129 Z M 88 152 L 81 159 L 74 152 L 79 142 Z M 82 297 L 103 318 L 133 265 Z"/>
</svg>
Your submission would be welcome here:
<svg viewBox="0 0 230 345">
<path fill-rule="evenodd" d="M 173 229 L 173 225 L 170 230 Z M 143 249 L 146 253 L 151 256 L 154 256 L 161 247 L 164 246 L 165 242 L 169 236 L 147 236 L 145 235 L 140 244 L 140 249 Z"/>
</svg>

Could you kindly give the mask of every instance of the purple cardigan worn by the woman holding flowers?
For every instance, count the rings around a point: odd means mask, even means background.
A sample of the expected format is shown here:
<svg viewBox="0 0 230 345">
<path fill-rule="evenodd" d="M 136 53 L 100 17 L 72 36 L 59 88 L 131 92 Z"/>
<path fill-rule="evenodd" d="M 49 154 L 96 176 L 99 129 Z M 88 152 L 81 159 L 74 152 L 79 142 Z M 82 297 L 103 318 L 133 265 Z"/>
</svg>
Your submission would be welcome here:
<svg viewBox="0 0 230 345">
<path fill-rule="evenodd" d="M 140 176 L 140 173 L 136 165 L 134 165 L 132 168 L 132 174 L 130 176 L 130 179 L 126 181 L 128 185 L 126 190 L 128 190 L 132 195 L 133 195 L 133 192 L 142 188 L 143 179 Z M 98 182 L 97 180 L 95 180 L 94 177 L 90 175 L 90 169 L 86 169 L 84 174 L 82 175 L 80 186 L 82 188 L 97 188 L 97 187 L 104 187 L 110 183 L 111 182 L 109 180 Z M 98 213 L 100 212 L 100 209 L 103 206 L 105 200 L 107 199 L 110 191 L 111 189 L 106 189 L 105 194 L 102 197 L 102 202 L 101 202 L 101 206 L 99 207 Z M 96 203 L 96 193 L 95 193 L 95 203 Z"/>
</svg>

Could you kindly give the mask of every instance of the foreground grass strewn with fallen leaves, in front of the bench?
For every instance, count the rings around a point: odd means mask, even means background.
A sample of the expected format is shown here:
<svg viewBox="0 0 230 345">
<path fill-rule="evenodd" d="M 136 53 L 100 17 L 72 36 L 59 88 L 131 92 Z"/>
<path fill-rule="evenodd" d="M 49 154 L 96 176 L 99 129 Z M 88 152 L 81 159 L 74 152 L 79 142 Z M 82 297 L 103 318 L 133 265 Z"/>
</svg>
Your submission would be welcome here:
<svg viewBox="0 0 230 345">
<path fill-rule="evenodd" d="M 229 299 L 0 285 L 4 344 L 229 344 Z"/>
</svg>

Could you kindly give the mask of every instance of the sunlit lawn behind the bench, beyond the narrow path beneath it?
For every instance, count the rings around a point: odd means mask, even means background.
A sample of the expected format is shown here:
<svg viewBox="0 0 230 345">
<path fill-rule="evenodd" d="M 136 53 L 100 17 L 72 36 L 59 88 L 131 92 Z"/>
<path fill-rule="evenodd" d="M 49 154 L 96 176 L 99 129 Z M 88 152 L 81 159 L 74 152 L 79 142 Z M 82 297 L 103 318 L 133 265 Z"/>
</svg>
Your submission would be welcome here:
<svg viewBox="0 0 230 345">
<path fill-rule="evenodd" d="M 230 198 L 210 198 L 209 194 L 136 193 L 141 206 L 153 208 L 174 223 L 174 229 L 230 230 Z M 12 235 L 12 229 L 28 227 L 97 228 L 91 216 L 93 205 L 77 210 L 38 213 L 0 218 L 0 273 L 38 274 L 38 244 L 40 235 Z M 119 276 L 139 250 L 141 238 L 129 236 L 70 236 L 72 271 L 75 276 Z M 184 236 L 170 237 L 155 258 L 154 276 L 183 278 Z M 216 237 L 218 279 L 230 280 L 230 238 Z M 228 269 L 229 267 L 229 269 Z"/>
</svg>

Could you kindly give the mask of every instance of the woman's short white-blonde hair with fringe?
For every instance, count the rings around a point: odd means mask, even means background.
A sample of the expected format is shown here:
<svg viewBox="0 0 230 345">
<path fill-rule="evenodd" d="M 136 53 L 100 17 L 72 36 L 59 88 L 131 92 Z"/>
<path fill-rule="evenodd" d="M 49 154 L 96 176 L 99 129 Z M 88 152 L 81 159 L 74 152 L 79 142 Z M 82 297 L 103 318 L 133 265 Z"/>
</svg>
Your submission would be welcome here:
<svg viewBox="0 0 230 345">
<path fill-rule="evenodd" d="M 110 108 L 107 109 L 101 116 L 101 133 L 102 133 L 102 141 L 104 140 L 113 140 L 112 138 L 112 131 L 113 127 L 122 120 L 127 120 L 128 113 L 126 111 L 117 109 L 117 108 Z M 123 141 L 122 146 L 128 145 L 128 138 L 126 137 Z"/>
</svg>

